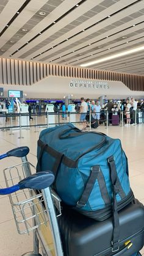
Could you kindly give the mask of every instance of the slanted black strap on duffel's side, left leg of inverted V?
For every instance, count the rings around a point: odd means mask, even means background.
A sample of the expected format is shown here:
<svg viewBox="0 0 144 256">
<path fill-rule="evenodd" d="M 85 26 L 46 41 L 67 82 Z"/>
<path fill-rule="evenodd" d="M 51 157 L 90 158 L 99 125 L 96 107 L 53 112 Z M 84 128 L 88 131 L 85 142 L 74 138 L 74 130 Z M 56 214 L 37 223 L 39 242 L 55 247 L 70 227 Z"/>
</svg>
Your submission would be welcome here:
<svg viewBox="0 0 144 256">
<path fill-rule="evenodd" d="M 92 192 L 93 186 L 95 185 L 95 181 L 98 177 L 99 171 L 100 171 L 99 166 L 93 166 L 92 167 L 90 177 L 88 178 L 87 184 L 85 185 L 84 192 L 82 193 L 81 198 L 77 202 L 76 207 L 82 208 L 86 205 L 88 197 L 90 196 L 90 193 Z"/>
</svg>

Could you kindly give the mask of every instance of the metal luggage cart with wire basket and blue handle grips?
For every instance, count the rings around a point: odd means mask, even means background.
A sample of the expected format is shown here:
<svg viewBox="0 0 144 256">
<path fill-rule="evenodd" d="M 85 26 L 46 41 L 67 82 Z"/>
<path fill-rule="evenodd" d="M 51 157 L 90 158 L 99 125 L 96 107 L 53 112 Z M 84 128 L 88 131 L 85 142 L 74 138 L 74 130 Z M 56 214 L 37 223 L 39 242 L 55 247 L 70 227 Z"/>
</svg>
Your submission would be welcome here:
<svg viewBox="0 0 144 256">
<path fill-rule="evenodd" d="M 32 175 L 35 167 L 27 161 L 28 153 L 28 147 L 19 147 L 0 156 L 0 159 L 15 156 L 22 161 L 4 169 L 7 188 L 0 189 L 0 194 L 9 194 L 18 233 L 33 232 L 34 251 L 23 256 L 41 256 L 39 247 L 43 256 L 63 256 L 57 224 L 57 216 L 61 214 L 60 199 L 49 188 L 54 175 L 51 172 Z M 59 210 L 57 216 L 54 205 Z"/>
</svg>

